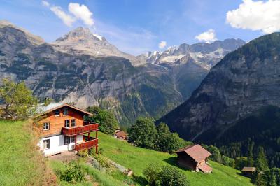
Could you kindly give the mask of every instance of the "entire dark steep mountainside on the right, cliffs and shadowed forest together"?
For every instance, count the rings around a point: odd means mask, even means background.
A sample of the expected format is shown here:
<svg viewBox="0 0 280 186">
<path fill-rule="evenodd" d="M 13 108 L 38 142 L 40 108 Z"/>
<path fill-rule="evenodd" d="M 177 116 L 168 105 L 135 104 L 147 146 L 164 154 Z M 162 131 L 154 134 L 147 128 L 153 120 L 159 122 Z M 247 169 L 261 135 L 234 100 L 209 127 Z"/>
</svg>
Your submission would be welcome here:
<svg viewBox="0 0 280 186">
<path fill-rule="evenodd" d="M 231 157 L 262 145 L 279 166 L 280 33 L 257 38 L 226 55 L 200 87 L 159 121 L 181 137 L 223 146 Z"/>
</svg>

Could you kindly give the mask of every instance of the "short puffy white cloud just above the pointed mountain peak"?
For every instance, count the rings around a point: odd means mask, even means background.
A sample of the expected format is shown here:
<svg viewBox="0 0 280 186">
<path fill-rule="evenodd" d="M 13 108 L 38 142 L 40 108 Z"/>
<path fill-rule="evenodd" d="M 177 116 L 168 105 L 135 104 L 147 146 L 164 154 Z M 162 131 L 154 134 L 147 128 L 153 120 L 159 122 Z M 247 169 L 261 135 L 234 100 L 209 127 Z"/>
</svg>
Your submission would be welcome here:
<svg viewBox="0 0 280 186">
<path fill-rule="evenodd" d="M 69 3 L 68 10 L 75 15 L 76 18 L 83 21 L 87 26 L 92 26 L 94 21 L 92 19 L 92 12 L 85 5 L 79 3 Z"/>
</svg>

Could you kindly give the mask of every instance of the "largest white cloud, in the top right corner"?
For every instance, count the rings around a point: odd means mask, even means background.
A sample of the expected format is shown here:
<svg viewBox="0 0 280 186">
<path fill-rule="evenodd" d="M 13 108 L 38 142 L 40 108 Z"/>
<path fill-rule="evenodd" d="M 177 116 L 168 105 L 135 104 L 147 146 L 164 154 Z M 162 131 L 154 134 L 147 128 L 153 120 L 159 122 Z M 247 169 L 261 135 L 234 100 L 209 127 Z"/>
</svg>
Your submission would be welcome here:
<svg viewBox="0 0 280 186">
<path fill-rule="evenodd" d="M 269 34 L 280 30 L 280 0 L 243 0 L 236 10 L 227 13 L 230 26 L 239 29 L 261 30 Z"/>
</svg>

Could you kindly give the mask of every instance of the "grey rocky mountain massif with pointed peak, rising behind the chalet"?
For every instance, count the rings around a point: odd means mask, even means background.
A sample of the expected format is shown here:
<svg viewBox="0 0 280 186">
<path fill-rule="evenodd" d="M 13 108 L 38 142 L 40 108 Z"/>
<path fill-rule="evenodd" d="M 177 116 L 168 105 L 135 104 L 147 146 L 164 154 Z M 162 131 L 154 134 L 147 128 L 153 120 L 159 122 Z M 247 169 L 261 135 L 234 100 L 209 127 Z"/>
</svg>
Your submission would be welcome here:
<svg viewBox="0 0 280 186">
<path fill-rule="evenodd" d="M 237 43 L 232 41 L 230 49 Z M 207 75 L 204 61 L 186 55 L 174 61 L 182 64 L 167 68 L 125 54 L 82 27 L 45 43 L 10 22 L 0 22 L 0 78 L 25 81 L 41 100 L 108 108 L 121 124 L 141 115 L 161 117 L 182 103 Z"/>
</svg>

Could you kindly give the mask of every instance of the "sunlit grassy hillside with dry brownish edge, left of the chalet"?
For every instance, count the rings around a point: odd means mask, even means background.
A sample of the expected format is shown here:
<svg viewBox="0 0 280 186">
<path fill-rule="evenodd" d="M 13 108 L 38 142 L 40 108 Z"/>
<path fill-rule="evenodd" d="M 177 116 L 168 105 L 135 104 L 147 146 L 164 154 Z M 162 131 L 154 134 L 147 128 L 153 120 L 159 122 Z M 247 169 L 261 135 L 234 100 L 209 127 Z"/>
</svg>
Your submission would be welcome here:
<svg viewBox="0 0 280 186">
<path fill-rule="evenodd" d="M 27 122 L 0 121 L 0 185 L 52 185 Z"/>
</svg>

